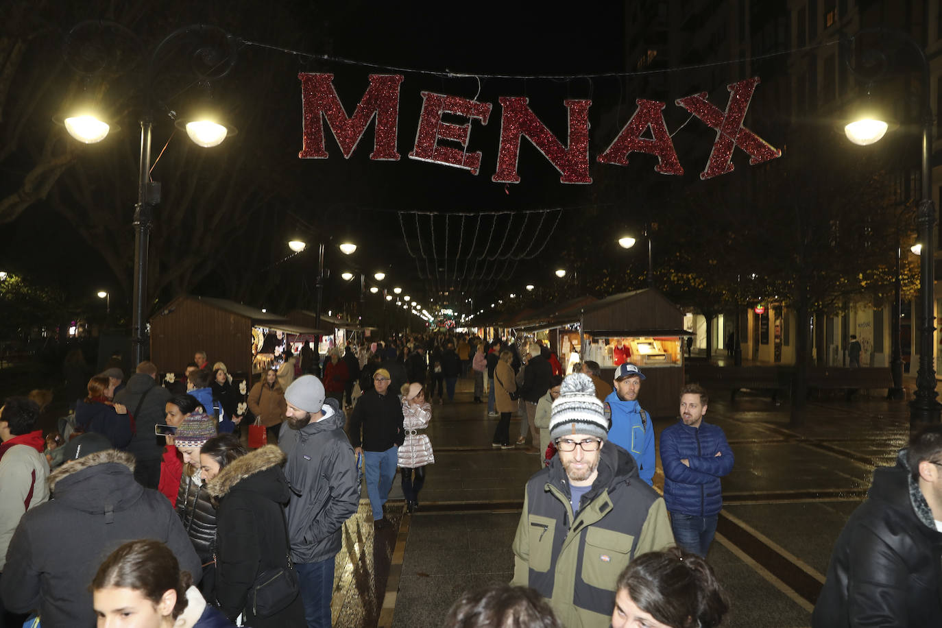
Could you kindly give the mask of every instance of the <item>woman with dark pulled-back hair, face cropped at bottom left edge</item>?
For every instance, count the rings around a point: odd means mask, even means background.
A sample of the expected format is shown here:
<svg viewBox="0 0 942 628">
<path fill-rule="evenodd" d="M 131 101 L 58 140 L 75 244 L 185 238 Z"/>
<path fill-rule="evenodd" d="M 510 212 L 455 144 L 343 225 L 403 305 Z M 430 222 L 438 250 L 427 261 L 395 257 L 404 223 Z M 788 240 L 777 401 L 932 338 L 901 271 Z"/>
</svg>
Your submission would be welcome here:
<svg viewBox="0 0 942 628">
<path fill-rule="evenodd" d="M 193 587 L 176 556 L 159 540 L 124 543 L 91 581 L 99 626 L 230 628 L 233 624 Z"/>
</svg>

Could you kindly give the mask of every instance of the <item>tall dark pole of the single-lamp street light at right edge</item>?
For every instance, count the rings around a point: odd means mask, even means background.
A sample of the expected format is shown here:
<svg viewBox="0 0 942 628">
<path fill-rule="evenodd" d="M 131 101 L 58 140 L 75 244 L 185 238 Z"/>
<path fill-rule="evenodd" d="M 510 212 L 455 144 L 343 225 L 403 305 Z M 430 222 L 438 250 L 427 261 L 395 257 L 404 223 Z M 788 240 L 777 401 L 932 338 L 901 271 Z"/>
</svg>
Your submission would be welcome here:
<svg viewBox="0 0 942 628">
<path fill-rule="evenodd" d="M 919 372 L 916 378 L 916 398 L 910 404 L 910 430 L 922 425 L 939 423 L 940 405 L 935 400 L 935 206 L 932 196 L 932 133 L 933 107 L 929 62 L 918 43 L 907 36 L 907 40 L 918 50 L 922 59 L 922 200 L 919 201 L 918 231 L 922 242 L 920 262 L 921 273 L 921 310 L 922 330 L 919 337 Z"/>
</svg>

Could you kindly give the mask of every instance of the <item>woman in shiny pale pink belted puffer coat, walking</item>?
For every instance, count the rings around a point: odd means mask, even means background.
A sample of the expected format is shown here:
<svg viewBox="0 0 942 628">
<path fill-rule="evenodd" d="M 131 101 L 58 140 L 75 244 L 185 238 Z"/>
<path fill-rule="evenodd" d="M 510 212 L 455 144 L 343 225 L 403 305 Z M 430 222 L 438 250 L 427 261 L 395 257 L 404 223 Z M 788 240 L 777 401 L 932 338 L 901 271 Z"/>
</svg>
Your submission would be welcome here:
<svg viewBox="0 0 942 628">
<path fill-rule="evenodd" d="M 418 491 L 425 484 L 425 465 L 435 463 L 429 437 L 424 433 L 431 421 L 431 406 L 425 400 L 425 388 L 417 381 L 402 384 L 401 392 L 402 428 L 406 435 L 399 445 L 398 465 L 406 510 L 414 512 L 418 508 Z"/>
</svg>

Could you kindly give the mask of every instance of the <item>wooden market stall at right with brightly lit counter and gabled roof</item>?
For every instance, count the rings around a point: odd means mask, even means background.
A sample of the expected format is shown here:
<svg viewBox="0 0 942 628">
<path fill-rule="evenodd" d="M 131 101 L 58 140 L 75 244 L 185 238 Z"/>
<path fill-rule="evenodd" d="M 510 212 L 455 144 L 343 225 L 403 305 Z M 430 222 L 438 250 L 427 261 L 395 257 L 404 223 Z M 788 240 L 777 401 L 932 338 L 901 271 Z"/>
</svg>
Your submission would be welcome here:
<svg viewBox="0 0 942 628">
<path fill-rule="evenodd" d="M 616 366 L 632 362 L 645 376 L 639 400 L 654 416 L 675 416 L 684 385 L 684 314 L 655 288 L 612 295 L 582 308 L 580 359 L 602 367 L 612 379 Z"/>
</svg>

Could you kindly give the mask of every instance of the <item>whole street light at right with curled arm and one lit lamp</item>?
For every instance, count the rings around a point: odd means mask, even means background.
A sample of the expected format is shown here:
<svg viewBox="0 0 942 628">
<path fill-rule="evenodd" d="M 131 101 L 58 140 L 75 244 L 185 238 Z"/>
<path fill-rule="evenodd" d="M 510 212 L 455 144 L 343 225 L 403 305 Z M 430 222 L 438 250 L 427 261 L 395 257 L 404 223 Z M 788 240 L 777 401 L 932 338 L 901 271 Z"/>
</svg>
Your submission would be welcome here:
<svg viewBox="0 0 942 628">
<path fill-rule="evenodd" d="M 939 423 L 942 419 L 940 415 L 939 402 L 935 400 L 938 395 L 935 392 L 935 367 L 934 367 L 934 300 L 935 300 L 935 206 L 932 197 L 932 132 L 933 132 L 933 107 L 932 107 L 932 89 L 930 80 L 929 61 L 926 59 L 925 51 L 919 46 L 918 41 L 914 40 L 908 33 L 895 29 L 885 28 L 863 28 L 853 38 L 847 40 L 849 52 L 852 53 L 846 58 L 851 71 L 860 76 L 851 63 L 853 57 L 853 40 L 865 34 L 878 33 L 886 35 L 908 44 L 910 48 L 918 53 L 921 64 L 921 87 L 922 98 L 920 105 L 920 122 L 922 127 L 922 147 L 921 147 L 921 198 L 918 205 L 918 234 L 919 241 L 922 243 L 920 255 L 920 310 L 922 314 L 922 329 L 919 336 L 919 370 L 916 379 L 916 398 L 910 403 L 910 428 L 917 429 L 919 426 L 929 423 Z M 885 56 L 883 61 L 885 62 Z M 875 77 L 864 77 L 869 80 L 881 78 L 886 72 L 888 64 L 883 64 L 883 72 Z M 857 133 L 860 125 L 864 126 L 864 133 Z M 856 144 L 866 145 L 877 141 L 883 137 L 887 124 L 885 121 L 864 120 L 853 121 L 846 127 L 847 137 Z M 874 133 L 873 129 L 877 129 Z M 874 138 L 875 137 L 875 138 Z"/>
</svg>

